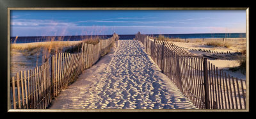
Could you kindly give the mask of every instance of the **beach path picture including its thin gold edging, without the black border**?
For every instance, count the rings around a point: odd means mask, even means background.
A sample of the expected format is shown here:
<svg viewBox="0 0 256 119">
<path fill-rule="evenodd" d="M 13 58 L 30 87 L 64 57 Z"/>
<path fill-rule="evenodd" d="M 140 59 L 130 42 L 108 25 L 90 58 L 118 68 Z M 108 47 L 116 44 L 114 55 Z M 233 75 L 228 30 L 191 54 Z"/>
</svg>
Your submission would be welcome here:
<svg viewBox="0 0 256 119">
<path fill-rule="evenodd" d="M 8 112 L 249 110 L 249 8 L 7 12 Z"/>
</svg>

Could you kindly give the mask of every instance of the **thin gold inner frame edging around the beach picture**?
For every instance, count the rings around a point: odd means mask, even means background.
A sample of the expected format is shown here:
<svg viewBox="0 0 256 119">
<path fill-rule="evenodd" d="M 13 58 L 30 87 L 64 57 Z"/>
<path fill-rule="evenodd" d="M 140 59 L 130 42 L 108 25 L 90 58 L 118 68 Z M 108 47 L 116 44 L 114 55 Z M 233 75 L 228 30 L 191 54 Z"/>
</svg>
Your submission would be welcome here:
<svg viewBox="0 0 256 119">
<path fill-rule="evenodd" d="M 249 89 L 249 8 L 8 8 L 8 112 L 248 112 L 246 109 L 10 109 L 10 12 L 12 10 L 245 10 L 246 11 L 246 89 Z"/>
</svg>

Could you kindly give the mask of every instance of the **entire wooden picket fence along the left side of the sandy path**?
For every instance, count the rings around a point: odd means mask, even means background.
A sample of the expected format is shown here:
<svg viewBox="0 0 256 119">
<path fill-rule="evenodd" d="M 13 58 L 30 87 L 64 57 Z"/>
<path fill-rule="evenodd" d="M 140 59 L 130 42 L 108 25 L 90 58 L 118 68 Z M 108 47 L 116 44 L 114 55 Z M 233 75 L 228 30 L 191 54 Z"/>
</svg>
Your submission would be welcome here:
<svg viewBox="0 0 256 119">
<path fill-rule="evenodd" d="M 10 80 L 10 108 L 46 109 L 52 99 L 76 81 L 83 70 L 106 55 L 118 39 L 114 33 L 96 45 L 83 42 L 79 53 L 59 52 L 35 70 L 20 71 Z"/>
</svg>

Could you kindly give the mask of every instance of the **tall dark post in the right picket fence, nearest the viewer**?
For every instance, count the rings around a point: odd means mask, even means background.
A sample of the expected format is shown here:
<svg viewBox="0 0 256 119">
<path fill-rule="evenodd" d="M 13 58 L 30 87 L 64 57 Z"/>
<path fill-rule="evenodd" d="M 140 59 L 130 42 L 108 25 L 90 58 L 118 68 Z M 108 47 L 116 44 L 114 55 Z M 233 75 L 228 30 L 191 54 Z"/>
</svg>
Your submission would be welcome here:
<svg viewBox="0 0 256 119">
<path fill-rule="evenodd" d="M 205 109 L 210 109 L 207 58 L 204 58 Z"/>
</svg>

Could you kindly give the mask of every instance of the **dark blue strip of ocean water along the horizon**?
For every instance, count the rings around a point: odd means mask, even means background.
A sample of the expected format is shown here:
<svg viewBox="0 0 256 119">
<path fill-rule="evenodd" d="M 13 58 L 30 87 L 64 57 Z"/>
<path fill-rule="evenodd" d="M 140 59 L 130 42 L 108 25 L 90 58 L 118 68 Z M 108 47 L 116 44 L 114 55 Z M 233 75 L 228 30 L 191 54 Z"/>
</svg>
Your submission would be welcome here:
<svg viewBox="0 0 256 119">
<path fill-rule="evenodd" d="M 149 36 L 158 36 L 148 34 Z M 162 34 L 169 38 L 245 38 L 245 33 L 201 33 L 201 34 Z M 98 35 L 100 38 L 111 38 L 112 35 Z M 135 38 L 135 35 L 119 35 L 120 40 L 129 40 Z M 31 42 L 46 42 L 46 41 L 79 41 L 91 36 L 11 36 L 11 44 L 22 44 Z"/>
</svg>

